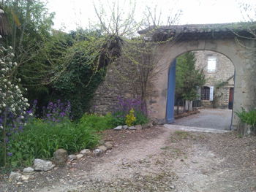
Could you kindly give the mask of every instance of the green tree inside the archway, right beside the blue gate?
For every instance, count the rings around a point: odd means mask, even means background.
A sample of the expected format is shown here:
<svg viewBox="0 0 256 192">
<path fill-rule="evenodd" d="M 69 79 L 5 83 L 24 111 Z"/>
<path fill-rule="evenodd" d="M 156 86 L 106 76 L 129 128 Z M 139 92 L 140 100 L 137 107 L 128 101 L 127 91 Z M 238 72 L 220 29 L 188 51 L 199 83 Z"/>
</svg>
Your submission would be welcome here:
<svg viewBox="0 0 256 192">
<path fill-rule="evenodd" d="M 177 58 L 176 64 L 176 99 L 195 100 L 197 88 L 205 84 L 203 69 L 196 69 L 195 54 L 184 53 Z"/>
</svg>

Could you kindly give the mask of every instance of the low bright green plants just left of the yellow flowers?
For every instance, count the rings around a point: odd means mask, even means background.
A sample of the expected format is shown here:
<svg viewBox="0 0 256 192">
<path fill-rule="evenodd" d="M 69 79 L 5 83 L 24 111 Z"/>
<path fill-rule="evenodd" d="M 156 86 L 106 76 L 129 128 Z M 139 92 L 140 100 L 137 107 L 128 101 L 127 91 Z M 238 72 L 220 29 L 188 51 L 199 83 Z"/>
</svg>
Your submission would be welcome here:
<svg viewBox="0 0 256 192">
<path fill-rule="evenodd" d="M 105 129 L 114 128 L 113 116 L 108 113 L 105 116 L 86 114 L 80 118 L 78 127 L 86 128 L 91 131 L 104 131 Z"/>
</svg>

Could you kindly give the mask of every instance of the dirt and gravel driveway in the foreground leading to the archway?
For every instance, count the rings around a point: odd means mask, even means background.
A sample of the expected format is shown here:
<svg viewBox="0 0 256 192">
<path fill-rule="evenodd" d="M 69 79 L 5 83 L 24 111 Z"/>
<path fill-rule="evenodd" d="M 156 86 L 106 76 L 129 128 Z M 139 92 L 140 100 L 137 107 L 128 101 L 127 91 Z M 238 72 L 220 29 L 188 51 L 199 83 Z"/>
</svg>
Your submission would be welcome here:
<svg viewBox="0 0 256 192">
<path fill-rule="evenodd" d="M 256 191 L 256 137 L 154 127 L 105 131 L 115 147 L 0 191 Z"/>
</svg>

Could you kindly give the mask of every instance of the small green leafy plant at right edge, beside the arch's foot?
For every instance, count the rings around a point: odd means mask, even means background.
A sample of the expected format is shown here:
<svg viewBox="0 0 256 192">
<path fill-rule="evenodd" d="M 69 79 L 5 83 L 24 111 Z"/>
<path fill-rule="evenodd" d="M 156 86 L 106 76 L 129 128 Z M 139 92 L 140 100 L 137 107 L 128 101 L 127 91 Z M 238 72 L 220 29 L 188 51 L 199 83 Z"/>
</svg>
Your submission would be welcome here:
<svg viewBox="0 0 256 192">
<path fill-rule="evenodd" d="M 253 128 L 256 128 L 256 109 L 249 110 L 248 112 L 246 112 L 246 110 L 242 108 L 241 112 L 235 113 L 243 123 L 246 123 L 252 126 Z"/>
</svg>

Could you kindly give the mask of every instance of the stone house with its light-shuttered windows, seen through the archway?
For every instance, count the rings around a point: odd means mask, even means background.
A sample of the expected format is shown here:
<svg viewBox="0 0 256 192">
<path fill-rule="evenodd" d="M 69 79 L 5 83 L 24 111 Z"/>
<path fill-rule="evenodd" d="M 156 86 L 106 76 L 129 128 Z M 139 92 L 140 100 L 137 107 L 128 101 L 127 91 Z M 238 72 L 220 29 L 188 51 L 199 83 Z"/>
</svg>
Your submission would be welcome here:
<svg viewBox="0 0 256 192">
<path fill-rule="evenodd" d="M 225 55 L 210 50 L 195 51 L 196 66 L 203 69 L 206 84 L 201 88 L 204 107 L 232 109 L 235 68 Z"/>
</svg>

